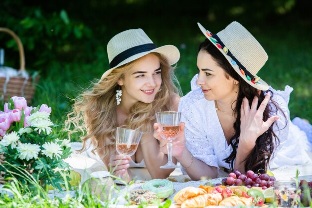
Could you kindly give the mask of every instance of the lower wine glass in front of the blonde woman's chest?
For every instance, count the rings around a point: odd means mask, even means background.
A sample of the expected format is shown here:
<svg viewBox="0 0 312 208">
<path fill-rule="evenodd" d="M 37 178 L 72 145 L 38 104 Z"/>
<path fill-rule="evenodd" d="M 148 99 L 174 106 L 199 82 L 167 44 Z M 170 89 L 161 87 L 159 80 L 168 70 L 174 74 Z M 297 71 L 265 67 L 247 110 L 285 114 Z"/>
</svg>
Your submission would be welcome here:
<svg viewBox="0 0 312 208">
<path fill-rule="evenodd" d="M 143 132 L 117 127 L 116 150 L 119 155 L 131 157 L 138 149 Z M 121 176 L 119 176 L 121 178 Z"/>
</svg>

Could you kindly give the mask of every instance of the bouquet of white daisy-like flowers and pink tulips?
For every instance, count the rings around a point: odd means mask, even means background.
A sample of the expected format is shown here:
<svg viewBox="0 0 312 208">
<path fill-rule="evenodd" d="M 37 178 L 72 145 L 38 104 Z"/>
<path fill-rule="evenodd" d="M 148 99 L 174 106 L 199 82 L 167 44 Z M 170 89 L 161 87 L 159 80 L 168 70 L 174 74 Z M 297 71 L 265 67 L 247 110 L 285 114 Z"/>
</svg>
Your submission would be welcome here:
<svg viewBox="0 0 312 208">
<path fill-rule="evenodd" d="M 70 166 L 63 159 L 70 156 L 71 144 L 51 134 L 50 113 L 45 104 L 27 106 L 23 97 L 12 97 L 4 104 L 4 112 L 0 111 L 0 184 L 14 177 L 29 186 L 35 182 L 43 188 L 61 189 L 64 185 L 63 176 Z"/>
</svg>

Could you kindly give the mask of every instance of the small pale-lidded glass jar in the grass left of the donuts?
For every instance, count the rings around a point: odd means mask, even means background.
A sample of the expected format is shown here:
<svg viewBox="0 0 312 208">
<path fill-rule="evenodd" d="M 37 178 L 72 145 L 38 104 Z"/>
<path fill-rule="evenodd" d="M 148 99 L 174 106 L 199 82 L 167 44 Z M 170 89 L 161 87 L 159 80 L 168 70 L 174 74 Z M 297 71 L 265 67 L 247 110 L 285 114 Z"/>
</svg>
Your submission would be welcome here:
<svg viewBox="0 0 312 208">
<path fill-rule="evenodd" d="M 99 197 L 101 201 L 110 199 L 114 189 L 114 182 L 107 171 L 97 171 L 90 174 L 90 179 L 85 181 L 82 189 Z"/>
</svg>

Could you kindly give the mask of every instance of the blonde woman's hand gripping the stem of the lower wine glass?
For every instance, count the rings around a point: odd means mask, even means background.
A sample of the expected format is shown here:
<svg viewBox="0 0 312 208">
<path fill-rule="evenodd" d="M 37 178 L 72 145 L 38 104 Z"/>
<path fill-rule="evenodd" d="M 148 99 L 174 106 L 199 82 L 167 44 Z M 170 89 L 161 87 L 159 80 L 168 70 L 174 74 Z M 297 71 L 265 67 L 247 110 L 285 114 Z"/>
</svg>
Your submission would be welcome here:
<svg viewBox="0 0 312 208">
<path fill-rule="evenodd" d="M 129 179 L 128 171 L 131 157 L 123 155 L 113 155 L 110 158 L 109 169 L 112 175 L 121 177 L 123 180 Z"/>
</svg>

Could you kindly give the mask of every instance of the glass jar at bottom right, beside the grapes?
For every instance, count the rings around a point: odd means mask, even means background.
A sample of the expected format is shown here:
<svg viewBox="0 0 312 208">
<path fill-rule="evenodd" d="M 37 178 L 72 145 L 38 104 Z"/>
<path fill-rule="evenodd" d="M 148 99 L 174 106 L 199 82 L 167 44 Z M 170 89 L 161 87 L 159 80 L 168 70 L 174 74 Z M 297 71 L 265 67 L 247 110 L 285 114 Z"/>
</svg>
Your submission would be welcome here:
<svg viewBox="0 0 312 208">
<path fill-rule="evenodd" d="M 277 207 L 300 207 L 300 190 L 296 188 L 295 182 L 276 181 L 274 186 L 274 198 Z"/>
</svg>

